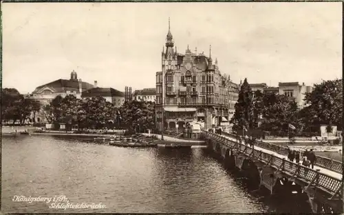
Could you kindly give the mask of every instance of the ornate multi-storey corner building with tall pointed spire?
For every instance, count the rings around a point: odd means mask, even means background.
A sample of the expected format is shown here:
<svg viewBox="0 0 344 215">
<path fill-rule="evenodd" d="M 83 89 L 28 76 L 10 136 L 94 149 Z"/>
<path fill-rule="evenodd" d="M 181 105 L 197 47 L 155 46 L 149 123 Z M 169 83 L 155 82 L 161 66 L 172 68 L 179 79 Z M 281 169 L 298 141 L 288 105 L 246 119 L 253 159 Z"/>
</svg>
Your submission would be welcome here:
<svg viewBox="0 0 344 215">
<path fill-rule="evenodd" d="M 161 131 L 183 130 L 186 123 L 204 123 L 208 129 L 218 125 L 228 126 L 234 114 L 239 85 L 230 81 L 213 63 L 211 47 L 209 57 L 204 53 L 191 52 L 189 45 L 185 54 L 174 47 L 170 28 L 162 48 L 162 71 L 156 72 L 156 126 Z"/>
</svg>

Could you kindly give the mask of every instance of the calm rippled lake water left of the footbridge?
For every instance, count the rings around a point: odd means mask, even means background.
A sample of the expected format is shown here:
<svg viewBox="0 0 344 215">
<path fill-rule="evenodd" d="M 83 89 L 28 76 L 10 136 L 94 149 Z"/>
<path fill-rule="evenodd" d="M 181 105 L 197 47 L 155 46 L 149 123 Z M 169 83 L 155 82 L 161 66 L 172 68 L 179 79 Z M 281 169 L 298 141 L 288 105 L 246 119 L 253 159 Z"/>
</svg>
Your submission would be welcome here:
<svg viewBox="0 0 344 215">
<path fill-rule="evenodd" d="M 258 194 L 205 150 L 122 148 L 70 136 L 3 136 L 1 180 L 4 213 L 260 214 L 308 206 Z M 52 201 L 14 196 L 65 196 L 55 203 L 106 208 L 50 208 Z"/>
</svg>

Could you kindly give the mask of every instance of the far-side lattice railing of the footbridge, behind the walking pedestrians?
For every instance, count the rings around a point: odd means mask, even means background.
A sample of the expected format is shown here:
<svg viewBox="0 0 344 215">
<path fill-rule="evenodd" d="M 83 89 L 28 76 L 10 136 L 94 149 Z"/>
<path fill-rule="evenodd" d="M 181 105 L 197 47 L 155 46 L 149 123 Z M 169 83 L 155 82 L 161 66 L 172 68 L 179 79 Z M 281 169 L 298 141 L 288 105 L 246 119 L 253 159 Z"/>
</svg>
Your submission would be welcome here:
<svg viewBox="0 0 344 215">
<path fill-rule="evenodd" d="M 223 135 L 231 137 L 233 139 L 237 139 L 237 135 L 235 134 L 230 134 L 227 132 L 222 132 Z M 271 150 L 273 152 L 277 152 L 279 154 L 283 154 L 283 155 L 288 155 L 288 147 L 284 147 L 281 145 L 276 145 L 274 143 L 266 143 L 263 141 L 256 141 L 255 145 L 257 145 L 258 147 L 262 147 L 266 150 Z M 324 156 L 316 156 L 316 163 L 314 163 L 315 165 L 318 165 L 319 167 L 323 167 L 327 170 L 332 170 L 334 172 L 338 172 L 338 173 L 343 173 L 343 163 L 341 161 L 336 161 L 334 159 L 331 158 L 327 158 Z"/>
</svg>

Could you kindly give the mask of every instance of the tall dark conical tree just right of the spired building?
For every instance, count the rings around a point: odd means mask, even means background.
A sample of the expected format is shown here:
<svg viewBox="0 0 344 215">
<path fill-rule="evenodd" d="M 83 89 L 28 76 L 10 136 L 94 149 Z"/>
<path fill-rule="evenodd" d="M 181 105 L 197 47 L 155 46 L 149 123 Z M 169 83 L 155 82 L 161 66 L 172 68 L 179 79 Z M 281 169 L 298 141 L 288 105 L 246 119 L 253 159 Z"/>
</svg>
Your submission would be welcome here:
<svg viewBox="0 0 344 215">
<path fill-rule="evenodd" d="M 234 123 L 233 129 L 237 130 L 242 129 L 243 126 L 246 128 L 254 127 L 254 121 L 252 90 L 247 79 L 245 79 L 243 85 L 241 85 L 239 99 L 235 104 L 235 113 L 230 123 Z"/>
</svg>

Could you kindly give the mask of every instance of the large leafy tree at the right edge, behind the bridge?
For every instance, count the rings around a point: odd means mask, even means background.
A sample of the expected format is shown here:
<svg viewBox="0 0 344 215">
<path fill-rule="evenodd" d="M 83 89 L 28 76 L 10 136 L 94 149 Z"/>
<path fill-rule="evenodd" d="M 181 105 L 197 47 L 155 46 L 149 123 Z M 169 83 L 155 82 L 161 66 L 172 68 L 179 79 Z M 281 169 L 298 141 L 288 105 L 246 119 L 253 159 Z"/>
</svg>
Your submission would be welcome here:
<svg viewBox="0 0 344 215">
<path fill-rule="evenodd" d="M 305 125 L 317 129 L 320 125 L 337 125 L 338 130 L 343 129 L 343 79 L 314 84 L 304 100 L 309 105 L 308 114 L 303 112 L 302 115 Z"/>
</svg>

